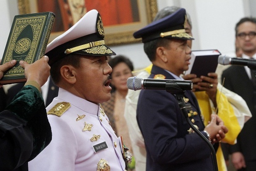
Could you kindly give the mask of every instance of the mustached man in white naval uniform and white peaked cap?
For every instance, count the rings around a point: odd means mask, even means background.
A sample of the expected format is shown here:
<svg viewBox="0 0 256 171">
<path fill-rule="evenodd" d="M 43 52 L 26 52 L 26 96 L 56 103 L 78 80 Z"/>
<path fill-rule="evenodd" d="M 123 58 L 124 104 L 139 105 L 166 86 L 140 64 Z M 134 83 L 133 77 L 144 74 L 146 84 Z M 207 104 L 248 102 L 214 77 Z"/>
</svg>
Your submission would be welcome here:
<svg viewBox="0 0 256 171">
<path fill-rule="evenodd" d="M 126 169 L 130 153 L 100 105 L 111 97 L 106 55 L 115 55 L 103 38 L 101 17 L 91 10 L 47 46 L 51 76 L 60 89 L 46 108 L 52 141 L 29 162 L 29 170 Z"/>
</svg>

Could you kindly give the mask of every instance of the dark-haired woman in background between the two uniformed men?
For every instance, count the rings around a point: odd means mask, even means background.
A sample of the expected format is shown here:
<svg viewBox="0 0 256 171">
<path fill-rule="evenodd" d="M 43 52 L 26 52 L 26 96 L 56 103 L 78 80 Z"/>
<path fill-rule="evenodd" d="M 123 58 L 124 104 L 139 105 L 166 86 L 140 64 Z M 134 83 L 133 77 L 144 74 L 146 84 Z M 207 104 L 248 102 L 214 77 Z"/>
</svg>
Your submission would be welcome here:
<svg viewBox="0 0 256 171">
<path fill-rule="evenodd" d="M 109 101 L 106 101 L 101 105 L 105 113 L 108 115 L 109 121 L 116 132 L 116 135 L 118 137 L 122 136 L 124 144 L 129 149 L 130 153 L 132 153 L 129 132 L 124 118 L 124 107 L 125 97 L 128 92 L 126 81 L 129 77 L 133 76 L 133 64 L 128 58 L 119 55 L 109 60 L 109 66 L 111 66 L 113 70 L 111 73 L 111 98 Z M 134 168 L 131 165 L 129 166 L 130 169 Z"/>
</svg>

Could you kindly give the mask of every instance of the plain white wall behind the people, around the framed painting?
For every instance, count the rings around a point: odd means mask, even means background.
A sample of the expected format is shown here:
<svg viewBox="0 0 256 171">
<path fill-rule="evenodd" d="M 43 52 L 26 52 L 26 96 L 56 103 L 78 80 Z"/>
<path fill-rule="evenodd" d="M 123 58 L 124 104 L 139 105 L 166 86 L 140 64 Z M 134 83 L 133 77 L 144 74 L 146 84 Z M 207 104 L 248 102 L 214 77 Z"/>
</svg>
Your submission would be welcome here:
<svg viewBox="0 0 256 171">
<path fill-rule="evenodd" d="M 5 48 L 13 16 L 18 14 L 17 0 L 1 0 L 0 18 L 5 23 L 0 27 L 0 58 Z M 244 16 L 250 16 L 251 0 L 158 0 L 158 8 L 165 6 L 184 7 L 191 15 L 195 40 L 192 50 L 218 49 L 222 54 L 234 54 L 234 26 Z M 134 68 L 150 64 L 142 43 L 112 46 L 117 54 L 129 57 Z"/>
</svg>

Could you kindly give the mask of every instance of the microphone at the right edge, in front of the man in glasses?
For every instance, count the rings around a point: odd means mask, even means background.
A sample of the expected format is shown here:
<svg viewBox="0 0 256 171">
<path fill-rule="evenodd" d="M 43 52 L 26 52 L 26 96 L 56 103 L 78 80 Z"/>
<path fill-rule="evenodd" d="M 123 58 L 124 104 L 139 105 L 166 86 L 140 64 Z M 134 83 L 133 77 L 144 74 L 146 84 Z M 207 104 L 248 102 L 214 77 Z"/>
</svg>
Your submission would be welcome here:
<svg viewBox="0 0 256 171">
<path fill-rule="evenodd" d="M 226 55 L 220 55 L 218 63 L 222 65 L 242 65 L 248 66 L 250 69 L 256 69 L 256 60 L 254 59 L 232 58 Z"/>
</svg>

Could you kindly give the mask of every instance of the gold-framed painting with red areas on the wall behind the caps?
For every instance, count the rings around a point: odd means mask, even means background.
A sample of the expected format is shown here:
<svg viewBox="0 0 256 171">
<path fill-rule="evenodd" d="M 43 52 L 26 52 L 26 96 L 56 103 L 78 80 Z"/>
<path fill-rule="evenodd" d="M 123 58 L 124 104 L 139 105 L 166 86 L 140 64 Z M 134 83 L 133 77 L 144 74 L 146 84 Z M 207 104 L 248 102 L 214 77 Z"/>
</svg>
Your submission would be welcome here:
<svg viewBox="0 0 256 171">
<path fill-rule="evenodd" d="M 52 11 L 56 14 L 50 41 L 72 27 L 84 14 L 96 9 L 102 18 L 107 45 L 140 41 L 133 33 L 152 22 L 156 0 L 18 0 L 20 14 Z M 49 42 L 50 42 L 49 41 Z"/>
</svg>

